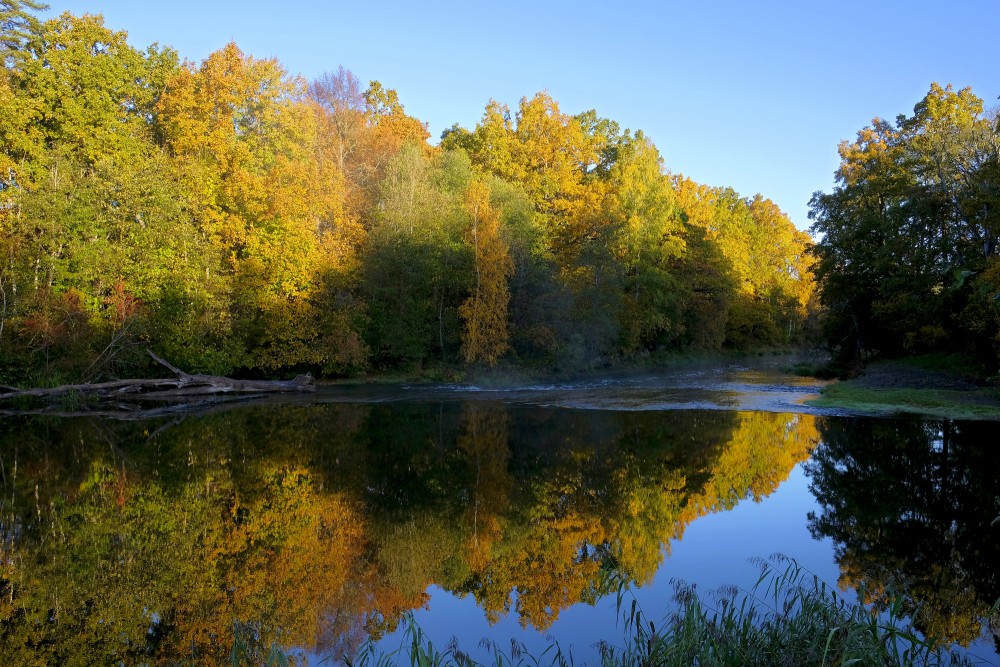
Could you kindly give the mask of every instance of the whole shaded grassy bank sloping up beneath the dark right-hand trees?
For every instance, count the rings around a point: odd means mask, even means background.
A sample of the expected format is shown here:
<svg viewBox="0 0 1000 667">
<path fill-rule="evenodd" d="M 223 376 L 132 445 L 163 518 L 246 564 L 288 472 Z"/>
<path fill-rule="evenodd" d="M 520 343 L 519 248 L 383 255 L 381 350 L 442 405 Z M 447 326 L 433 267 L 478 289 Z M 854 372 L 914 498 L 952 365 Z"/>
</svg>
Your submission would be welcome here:
<svg viewBox="0 0 1000 667">
<path fill-rule="evenodd" d="M 1000 387 L 960 357 L 934 355 L 874 362 L 805 404 L 870 415 L 1000 420 Z"/>
</svg>

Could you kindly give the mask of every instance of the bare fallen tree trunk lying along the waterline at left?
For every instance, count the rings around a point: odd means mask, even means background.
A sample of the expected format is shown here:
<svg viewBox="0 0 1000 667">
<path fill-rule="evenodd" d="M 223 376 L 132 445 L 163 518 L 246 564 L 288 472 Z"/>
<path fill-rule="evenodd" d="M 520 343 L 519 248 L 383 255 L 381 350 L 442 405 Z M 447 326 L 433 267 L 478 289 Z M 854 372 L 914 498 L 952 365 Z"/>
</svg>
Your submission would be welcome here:
<svg viewBox="0 0 1000 667">
<path fill-rule="evenodd" d="M 35 398 L 44 401 L 77 395 L 107 407 L 109 402 L 121 401 L 183 401 L 198 397 L 211 399 L 212 397 L 316 391 L 316 385 L 313 384 L 312 376 L 309 374 L 300 375 L 294 380 L 237 380 L 221 375 L 191 375 L 156 356 L 151 350 L 147 350 L 147 352 L 158 364 L 170 369 L 175 377 L 66 384 L 47 389 L 0 387 L 0 401 L 19 398 Z M 127 410 L 127 403 L 116 405 L 113 409 Z"/>
</svg>

